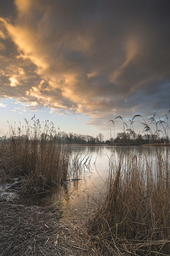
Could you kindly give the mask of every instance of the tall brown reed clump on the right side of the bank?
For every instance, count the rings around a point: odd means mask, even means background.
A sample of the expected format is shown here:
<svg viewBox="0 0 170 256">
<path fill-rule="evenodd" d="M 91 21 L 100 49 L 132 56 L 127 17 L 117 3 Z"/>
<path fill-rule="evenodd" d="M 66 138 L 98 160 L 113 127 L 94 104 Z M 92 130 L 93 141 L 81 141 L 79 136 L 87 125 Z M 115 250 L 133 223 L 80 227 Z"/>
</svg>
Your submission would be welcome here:
<svg viewBox="0 0 170 256">
<path fill-rule="evenodd" d="M 164 134 L 165 146 L 156 143 L 154 154 L 150 146 L 141 146 L 138 153 L 136 147 L 112 149 L 106 197 L 90 220 L 90 232 L 109 241 L 110 251 L 119 241 L 118 255 L 169 255 L 170 252 L 169 127 L 161 120 L 159 124 L 163 125 L 162 132 L 157 127 L 152 132 L 143 123 L 145 132 L 153 137 L 160 132 Z M 159 136 L 159 141 L 162 140 Z"/>
</svg>

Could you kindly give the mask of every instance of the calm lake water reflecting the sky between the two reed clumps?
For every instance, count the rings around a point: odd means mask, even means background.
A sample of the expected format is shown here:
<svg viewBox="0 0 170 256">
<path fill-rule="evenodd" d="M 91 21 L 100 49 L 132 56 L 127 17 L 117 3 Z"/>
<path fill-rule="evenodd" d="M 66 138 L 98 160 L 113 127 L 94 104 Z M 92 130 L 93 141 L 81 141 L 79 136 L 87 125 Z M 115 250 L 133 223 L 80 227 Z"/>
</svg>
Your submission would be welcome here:
<svg viewBox="0 0 170 256">
<path fill-rule="evenodd" d="M 120 155 L 120 148 L 115 149 L 116 158 Z M 89 168 L 82 170 L 81 180 L 69 180 L 67 185 L 62 185 L 61 188 L 29 197 L 29 205 L 46 206 L 60 199 L 60 207 L 63 210 L 61 221 L 68 221 L 78 218 L 89 210 L 91 204 L 95 205 L 98 202 L 99 196 L 105 191 L 104 181 L 108 176 L 111 146 L 72 146 L 73 156 L 78 152 L 81 153 L 82 159 L 91 158 Z M 155 147 L 152 147 L 153 157 L 155 152 Z M 132 154 L 141 154 L 141 150 L 136 147 Z"/>
</svg>

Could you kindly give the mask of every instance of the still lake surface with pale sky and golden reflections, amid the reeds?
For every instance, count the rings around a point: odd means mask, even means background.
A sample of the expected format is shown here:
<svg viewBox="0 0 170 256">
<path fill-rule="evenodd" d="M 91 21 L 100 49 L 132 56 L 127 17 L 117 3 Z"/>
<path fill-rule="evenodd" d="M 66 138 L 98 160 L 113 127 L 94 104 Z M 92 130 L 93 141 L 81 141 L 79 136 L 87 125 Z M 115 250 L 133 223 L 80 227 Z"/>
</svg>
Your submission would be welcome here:
<svg viewBox="0 0 170 256">
<path fill-rule="evenodd" d="M 166 150 L 166 149 L 165 149 Z M 147 165 L 148 162 L 153 162 L 154 174 L 154 161 L 156 156 L 156 148 L 147 146 L 136 147 L 121 147 L 121 146 L 72 146 L 72 156 L 78 153 L 81 159 L 90 159 L 87 161 L 84 169 L 82 170 L 80 180 L 67 181 L 66 185 L 56 187 L 51 192 L 34 195 L 30 198 L 29 204 L 31 205 L 52 205 L 60 200 L 60 207 L 63 210 L 62 221 L 68 221 L 77 218 L 79 214 L 89 211 L 90 207 L 97 205 L 101 196 L 105 193 L 106 180 L 109 176 L 109 166 L 111 163 L 119 164 L 120 155 L 123 152 L 122 170 L 128 170 L 129 166 L 126 165 L 127 158 L 140 157 L 145 159 L 141 161 L 141 165 Z M 145 158 L 143 155 L 145 154 Z M 115 161 L 113 161 L 113 158 Z M 89 164 L 88 164 L 89 163 Z M 123 175 L 123 174 L 122 174 Z"/>
</svg>

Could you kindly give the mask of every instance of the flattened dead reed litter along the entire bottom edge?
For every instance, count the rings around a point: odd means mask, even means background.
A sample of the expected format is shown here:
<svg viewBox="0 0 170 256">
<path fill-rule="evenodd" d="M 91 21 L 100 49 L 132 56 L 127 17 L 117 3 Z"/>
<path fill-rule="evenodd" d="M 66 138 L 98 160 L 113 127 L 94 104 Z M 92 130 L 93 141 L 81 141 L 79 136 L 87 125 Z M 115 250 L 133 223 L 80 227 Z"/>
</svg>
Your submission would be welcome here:
<svg viewBox="0 0 170 256">
<path fill-rule="evenodd" d="M 160 241 L 133 241 L 114 237 L 108 228 L 96 234 L 89 232 L 89 221 L 60 223 L 55 207 L 24 207 L 0 202 L 0 251 L 7 255 L 123 256 L 169 255 Z M 150 246 L 153 251 L 145 251 Z M 156 254 L 154 246 L 160 248 Z"/>
</svg>

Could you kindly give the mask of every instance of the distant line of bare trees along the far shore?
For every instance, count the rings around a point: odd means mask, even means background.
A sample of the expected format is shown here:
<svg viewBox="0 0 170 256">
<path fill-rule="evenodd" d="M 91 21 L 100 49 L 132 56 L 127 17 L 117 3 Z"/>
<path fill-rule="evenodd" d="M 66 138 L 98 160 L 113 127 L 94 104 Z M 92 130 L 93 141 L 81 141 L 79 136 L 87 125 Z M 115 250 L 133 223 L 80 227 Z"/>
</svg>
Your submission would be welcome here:
<svg viewBox="0 0 170 256">
<path fill-rule="evenodd" d="M 28 140 L 35 139 L 29 138 L 27 135 L 13 135 L 11 139 L 16 143 L 17 138 L 22 138 L 23 142 L 27 142 Z M 50 141 L 56 142 L 56 140 L 62 144 L 109 144 L 109 145 L 130 145 L 130 146 L 139 146 L 142 144 L 155 144 L 155 143 L 164 143 L 165 138 L 158 137 L 156 134 L 136 134 L 128 133 L 128 132 L 118 132 L 116 138 L 110 138 L 107 140 L 103 140 L 104 135 L 102 133 L 99 133 L 96 137 L 90 136 L 90 135 L 83 135 L 83 134 L 77 134 L 77 133 L 66 133 L 64 131 L 57 131 L 52 133 L 44 133 L 42 132 L 39 136 L 39 139 L 37 137 L 37 140 L 44 141 L 49 143 Z M 6 140 L 8 141 L 8 138 L 6 136 L 2 136 L 0 140 Z M 170 143 L 170 139 L 167 136 L 166 142 Z"/>
</svg>

